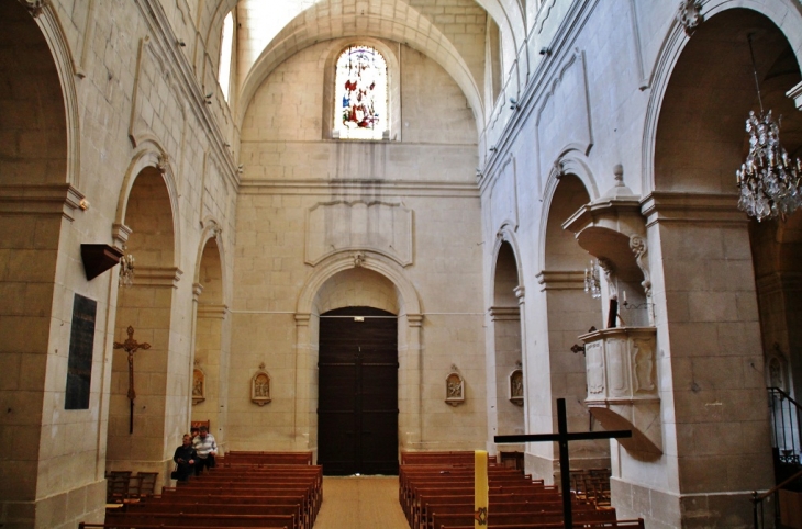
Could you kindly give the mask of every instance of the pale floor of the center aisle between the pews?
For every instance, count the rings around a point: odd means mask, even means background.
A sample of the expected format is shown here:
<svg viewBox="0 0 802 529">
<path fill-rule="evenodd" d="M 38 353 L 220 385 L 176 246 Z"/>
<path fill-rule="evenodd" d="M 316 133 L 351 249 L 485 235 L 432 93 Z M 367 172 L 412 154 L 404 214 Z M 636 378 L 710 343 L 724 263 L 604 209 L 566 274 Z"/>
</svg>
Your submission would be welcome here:
<svg viewBox="0 0 802 529">
<path fill-rule="evenodd" d="M 323 477 L 314 529 L 409 529 L 398 502 L 398 476 Z"/>
</svg>

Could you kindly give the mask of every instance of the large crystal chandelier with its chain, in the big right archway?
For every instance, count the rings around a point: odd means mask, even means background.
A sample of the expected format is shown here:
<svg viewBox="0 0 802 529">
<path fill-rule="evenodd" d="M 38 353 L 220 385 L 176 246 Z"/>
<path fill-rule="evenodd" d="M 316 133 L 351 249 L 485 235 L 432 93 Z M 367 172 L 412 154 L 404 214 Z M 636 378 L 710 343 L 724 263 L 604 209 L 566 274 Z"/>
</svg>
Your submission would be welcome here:
<svg viewBox="0 0 802 529">
<path fill-rule="evenodd" d="M 799 158 L 794 160 L 788 156 L 780 145 L 779 123 L 771 117 L 770 110 L 764 112 L 755 54 L 751 49 L 751 35 L 748 40 L 760 113 L 756 115 L 751 111 L 746 120 L 749 154 L 735 175 L 740 188 L 738 209 L 760 222 L 777 216 L 784 218 L 802 206 L 802 189 L 800 189 L 802 164 Z"/>
</svg>

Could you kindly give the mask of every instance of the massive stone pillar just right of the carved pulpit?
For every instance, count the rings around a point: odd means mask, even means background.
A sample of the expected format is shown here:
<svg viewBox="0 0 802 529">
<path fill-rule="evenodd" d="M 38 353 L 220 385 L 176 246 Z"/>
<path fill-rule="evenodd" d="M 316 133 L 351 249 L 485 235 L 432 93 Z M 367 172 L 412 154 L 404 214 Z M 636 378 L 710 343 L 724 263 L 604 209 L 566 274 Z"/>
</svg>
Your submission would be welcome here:
<svg viewBox="0 0 802 529">
<path fill-rule="evenodd" d="M 760 325 L 746 216 L 734 195 L 644 199 L 664 453 L 613 441 L 613 506 L 648 527 L 750 527 L 772 485 Z"/>
</svg>

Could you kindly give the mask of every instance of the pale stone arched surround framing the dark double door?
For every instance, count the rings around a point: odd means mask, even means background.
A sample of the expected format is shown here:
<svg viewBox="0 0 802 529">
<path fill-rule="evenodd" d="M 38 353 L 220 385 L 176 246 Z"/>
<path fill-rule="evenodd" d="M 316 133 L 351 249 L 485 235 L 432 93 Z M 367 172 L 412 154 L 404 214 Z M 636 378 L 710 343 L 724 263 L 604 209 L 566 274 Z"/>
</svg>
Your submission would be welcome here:
<svg viewBox="0 0 802 529">
<path fill-rule="evenodd" d="M 366 277 L 365 273 L 368 273 Z M 387 257 L 365 251 L 345 251 L 326 258 L 315 267 L 299 295 L 296 309 L 296 449 L 315 450 L 318 404 L 318 337 L 322 312 L 344 306 L 336 301 L 342 292 L 337 282 L 350 284 L 359 278 L 371 285 L 369 300 L 359 297 L 349 303 L 364 303 L 398 315 L 399 348 L 399 448 L 416 449 L 421 443 L 421 305 L 403 269 Z M 370 279 L 372 278 L 372 279 Z M 331 282 L 330 282 L 331 281 Z M 377 285 L 383 284 L 378 288 Z M 377 292 L 383 294 L 376 295 Z M 334 301 L 332 301 L 334 300 Z M 385 300 L 383 302 L 372 300 Z M 347 306 L 347 305 L 345 305 Z"/>
</svg>

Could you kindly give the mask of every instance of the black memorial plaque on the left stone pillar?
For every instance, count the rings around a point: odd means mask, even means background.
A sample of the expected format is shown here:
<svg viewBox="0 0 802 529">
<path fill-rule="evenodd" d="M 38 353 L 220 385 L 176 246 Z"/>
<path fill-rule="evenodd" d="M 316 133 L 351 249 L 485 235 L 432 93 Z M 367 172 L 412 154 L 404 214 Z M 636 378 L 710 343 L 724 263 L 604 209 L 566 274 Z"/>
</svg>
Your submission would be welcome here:
<svg viewBox="0 0 802 529">
<path fill-rule="evenodd" d="M 73 329 L 69 335 L 67 363 L 67 395 L 65 409 L 89 409 L 89 387 L 92 382 L 94 317 L 98 302 L 76 294 L 73 303 Z"/>
</svg>

